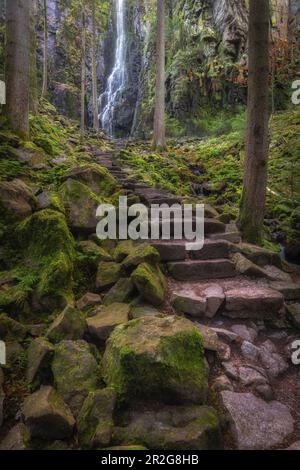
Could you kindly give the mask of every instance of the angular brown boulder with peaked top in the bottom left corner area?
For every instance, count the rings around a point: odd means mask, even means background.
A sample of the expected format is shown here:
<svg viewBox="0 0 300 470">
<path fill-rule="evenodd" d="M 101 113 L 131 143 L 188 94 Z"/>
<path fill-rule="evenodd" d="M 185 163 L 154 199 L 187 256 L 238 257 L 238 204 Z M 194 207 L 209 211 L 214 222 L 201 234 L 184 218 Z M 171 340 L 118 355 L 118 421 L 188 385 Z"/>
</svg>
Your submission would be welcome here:
<svg viewBox="0 0 300 470">
<path fill-rule="evenodd" d="M 54 388 L 41 387 L 25 399 L 22 417 L 32 437 L 65 439 L 71 437 L 75 420 Z"/>
</svg>

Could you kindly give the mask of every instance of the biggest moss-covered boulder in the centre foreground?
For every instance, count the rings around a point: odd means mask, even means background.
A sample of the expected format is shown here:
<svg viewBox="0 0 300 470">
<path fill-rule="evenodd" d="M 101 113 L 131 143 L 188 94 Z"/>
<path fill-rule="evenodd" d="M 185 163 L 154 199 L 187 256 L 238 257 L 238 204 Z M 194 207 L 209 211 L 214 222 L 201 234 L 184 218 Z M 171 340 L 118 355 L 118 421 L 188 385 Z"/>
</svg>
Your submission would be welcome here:
<svg viewBox="0 0 300 470">
<path fill-rule="evenodd" d="M 200 332 L 179 317 L 144 317 L 118 326 L 103 357 L 103 376 L 120 399 L 202 404 L 207 366 Z"/>
</svg>

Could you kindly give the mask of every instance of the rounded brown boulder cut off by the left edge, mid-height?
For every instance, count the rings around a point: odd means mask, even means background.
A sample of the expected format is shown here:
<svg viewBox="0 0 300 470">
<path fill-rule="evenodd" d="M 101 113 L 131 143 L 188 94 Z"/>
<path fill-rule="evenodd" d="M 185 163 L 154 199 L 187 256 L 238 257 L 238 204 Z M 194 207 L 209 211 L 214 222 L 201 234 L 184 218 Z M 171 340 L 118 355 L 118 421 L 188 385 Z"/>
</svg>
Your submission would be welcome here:
<svg viewBox="0 0 300 470">
<path fill-rule="evenodd" d="M 17 222 L 32 214 L 37 201 L 32 190 L 21 180 L 0 182 L 0 218 Z"/>
</svg>

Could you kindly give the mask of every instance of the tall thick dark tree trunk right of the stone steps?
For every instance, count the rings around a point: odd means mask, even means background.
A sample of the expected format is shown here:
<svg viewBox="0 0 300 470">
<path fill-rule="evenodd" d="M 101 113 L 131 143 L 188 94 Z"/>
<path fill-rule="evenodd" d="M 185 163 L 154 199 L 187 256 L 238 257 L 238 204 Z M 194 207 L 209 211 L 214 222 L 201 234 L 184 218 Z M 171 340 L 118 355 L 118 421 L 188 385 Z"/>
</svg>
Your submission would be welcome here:
<svg viewBox="0 0 300 470">
<path fill-rule="evenodd" d="M 244 239 L 260 243 L 269 150 L 269 0 L 250 0 L 247 142 L 240 225 Z"/>
</svg>

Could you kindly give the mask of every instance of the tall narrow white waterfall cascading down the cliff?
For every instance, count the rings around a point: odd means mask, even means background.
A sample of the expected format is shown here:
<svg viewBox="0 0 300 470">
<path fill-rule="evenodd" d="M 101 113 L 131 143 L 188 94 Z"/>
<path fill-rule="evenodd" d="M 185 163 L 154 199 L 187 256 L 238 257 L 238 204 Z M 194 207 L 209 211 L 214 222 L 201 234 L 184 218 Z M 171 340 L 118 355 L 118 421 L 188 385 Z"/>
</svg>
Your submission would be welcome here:
<svg viewBox="0 0 300 470">
<path fill-rule="evenodd" d="M 100 109 L 102 110 L 99 119 L 102 128 L 110 135 L 113 135 L 113 115 L 115 103 L 122 93 L 125 84 L 125 56 L 126 56 L 126 35 L 125 35 L 125 1 L 113 0 L 116 11 L 116 51 L 112 72 L 107 79 L 104 93 L 99 98 Z"/>
</svg>

